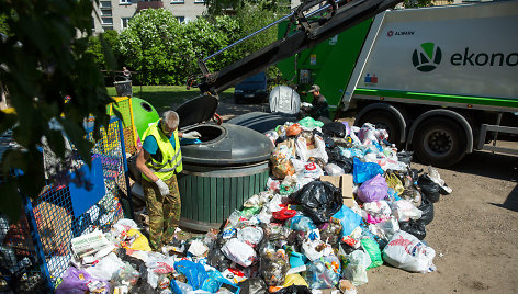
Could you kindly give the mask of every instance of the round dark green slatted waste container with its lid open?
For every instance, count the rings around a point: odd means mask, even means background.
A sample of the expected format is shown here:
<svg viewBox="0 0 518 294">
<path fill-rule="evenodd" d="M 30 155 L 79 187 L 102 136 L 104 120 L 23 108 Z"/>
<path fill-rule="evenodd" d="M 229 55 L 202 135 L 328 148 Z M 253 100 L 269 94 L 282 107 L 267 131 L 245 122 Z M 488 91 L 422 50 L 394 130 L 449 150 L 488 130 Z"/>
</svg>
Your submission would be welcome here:
<svg viewBox="0 0 518 294">
<path fill-rule="evenodd" d="M 201 144 L 183 145 L 183 171 L 178 176 L 181 226 L 218 228 L 251 195 L 263 191 L 269 177 L 271 142 L 247 127 L 206 123 L 217 98 L 202 95 L 177 109 L 180 132 L 198 131 Z"/>
</svg>

